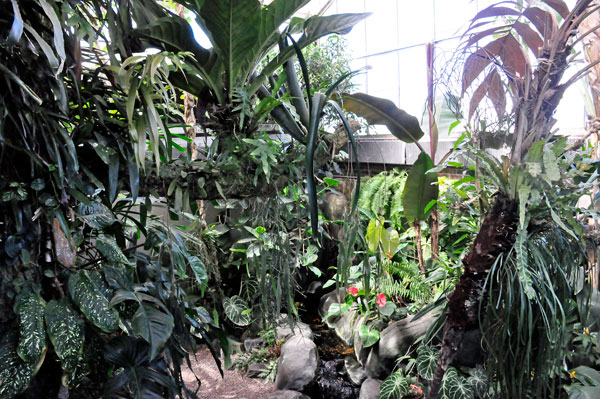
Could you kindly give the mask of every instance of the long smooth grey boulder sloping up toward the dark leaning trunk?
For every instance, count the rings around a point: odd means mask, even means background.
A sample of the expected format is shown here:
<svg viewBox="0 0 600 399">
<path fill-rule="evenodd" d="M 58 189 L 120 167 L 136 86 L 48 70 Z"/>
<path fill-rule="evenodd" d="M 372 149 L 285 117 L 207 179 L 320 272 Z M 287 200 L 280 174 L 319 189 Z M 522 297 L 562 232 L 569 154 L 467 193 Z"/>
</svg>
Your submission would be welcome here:
<svg viewBox="0 0 600 399">
<path fill-rule="evenodd" d="M 429 313 L 413 323 L 413 316 L 408 316 L 384 329 L 379 335 L 379 342 L 373 346 L 367 358 L 367 375 L 379 379 L 390 375 L 396 359 L 405 354 L 415 340 L 427 332 L 437 317 L 437 314 Z"/>
</svg>

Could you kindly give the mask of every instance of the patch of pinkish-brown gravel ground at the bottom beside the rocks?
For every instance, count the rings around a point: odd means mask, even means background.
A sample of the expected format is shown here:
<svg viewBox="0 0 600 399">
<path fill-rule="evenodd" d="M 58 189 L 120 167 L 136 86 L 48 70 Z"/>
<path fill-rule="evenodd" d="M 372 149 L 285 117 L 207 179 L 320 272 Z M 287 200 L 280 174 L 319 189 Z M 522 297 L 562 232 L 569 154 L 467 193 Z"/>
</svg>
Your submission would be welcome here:
<svg viewBox="0 0 600 399">
<path fill-rule="evenodd" d="M 192 369 L 200 379 L 198 390 L 200 399 L 266 399 L 275 390 L 273 383 L 265 384 L 262 379 L 247 378 L 235 370 L 224 370 L 222 378 L 215 361 L 206 346 L 201 346 L 192 357 Z M 183 370 L 183 380 L 193 390 L 197 387 L 196 378 L 189 369 Z"/>
</svg>

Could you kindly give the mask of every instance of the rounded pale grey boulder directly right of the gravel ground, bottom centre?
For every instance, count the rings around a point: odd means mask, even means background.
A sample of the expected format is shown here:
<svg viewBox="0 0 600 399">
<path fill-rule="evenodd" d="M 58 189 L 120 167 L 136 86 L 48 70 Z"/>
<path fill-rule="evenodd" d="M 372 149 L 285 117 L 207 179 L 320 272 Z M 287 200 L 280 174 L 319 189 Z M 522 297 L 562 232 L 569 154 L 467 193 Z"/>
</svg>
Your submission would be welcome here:
<svg viewBox="0 0 600 399">
<path fill-rule="evenodd" d="M 317 375 L 319 354 L 317 345 L 301 335 L 292 335 L 281 347 L 277 363 L 277 389 L 303 391 Z"/>
</svg>

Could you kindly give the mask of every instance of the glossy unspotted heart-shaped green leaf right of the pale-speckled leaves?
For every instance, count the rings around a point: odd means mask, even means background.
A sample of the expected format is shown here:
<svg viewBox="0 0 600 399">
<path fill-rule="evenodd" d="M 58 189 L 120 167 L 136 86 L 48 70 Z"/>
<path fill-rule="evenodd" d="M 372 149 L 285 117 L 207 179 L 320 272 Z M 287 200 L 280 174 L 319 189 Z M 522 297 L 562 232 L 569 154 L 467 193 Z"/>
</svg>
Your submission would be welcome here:
<svg viewBox="0 0 600 399">
<path fill-rule="evenodd" d="M 154 359 L 173 332 L 173 316 L 148 303 L 141 303 L 131 320 L 133 331 L 150 344 L 150 359 Z"/>
</svg>

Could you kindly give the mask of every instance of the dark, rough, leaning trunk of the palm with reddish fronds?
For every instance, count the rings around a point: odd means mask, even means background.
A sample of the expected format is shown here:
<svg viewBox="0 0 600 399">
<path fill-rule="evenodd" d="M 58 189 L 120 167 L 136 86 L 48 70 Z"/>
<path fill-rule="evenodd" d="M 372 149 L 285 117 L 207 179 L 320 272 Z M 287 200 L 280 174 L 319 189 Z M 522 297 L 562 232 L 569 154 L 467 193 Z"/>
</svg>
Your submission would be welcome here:
<svg viewBox="0 0 600 399">
<path fill-rule="evenodd" d="M 479 308 L 485 305 L 483 286 L 498 256 L 515 242 L 518 203 L 503 194 L 496 200 L 483 220 L 481 230 L 467 256 L 464 271 L 448 299 L 442 349 L 431 385 L 431 398 L 436 398 L 442 377 L 452 364 L 463 363 L 464 354 L 473 350 L 483 358 L 483 348 L 473 348 L 473 335 L 479 333 Z M 464 363 L 463 363 L 464 364 Z"/>
</svg>

